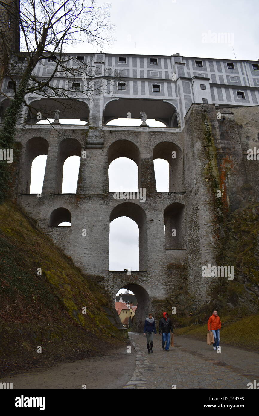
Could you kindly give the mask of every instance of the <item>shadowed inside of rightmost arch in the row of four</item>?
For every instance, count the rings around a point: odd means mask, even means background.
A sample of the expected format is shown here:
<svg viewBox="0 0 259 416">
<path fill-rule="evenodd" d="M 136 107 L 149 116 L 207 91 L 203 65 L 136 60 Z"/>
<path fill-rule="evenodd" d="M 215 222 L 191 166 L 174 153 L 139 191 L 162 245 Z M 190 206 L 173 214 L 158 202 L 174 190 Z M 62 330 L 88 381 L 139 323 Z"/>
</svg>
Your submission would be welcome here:
<svg viewBox="0 0 259 416">
<path fill-rule="evenodd" d="M 172 155 L 176 158 L 172 158 Z M 180 147 L 173 142 L 162 141 L 153 149 L 153 160 L 158 158 L 165 159 L 169 163 L 169 192 L 182 191 L 183 152 Z"/>
</svg>

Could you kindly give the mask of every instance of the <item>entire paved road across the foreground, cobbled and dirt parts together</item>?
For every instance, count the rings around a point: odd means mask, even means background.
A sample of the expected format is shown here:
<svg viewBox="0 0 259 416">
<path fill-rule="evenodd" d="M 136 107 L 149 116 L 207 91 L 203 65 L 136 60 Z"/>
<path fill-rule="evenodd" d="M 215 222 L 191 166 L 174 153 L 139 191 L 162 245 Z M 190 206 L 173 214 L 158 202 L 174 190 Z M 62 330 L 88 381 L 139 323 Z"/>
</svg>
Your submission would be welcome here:
<svg viewBox="0 0 259 416">
<path fill-rule="evenodd" d="M 162 349 L 154 337 L 147 354 L 146 337 L 130 332 L 127 344 L 104 357 L 83 359 L 8 377 L 13 389 L 247 389 L 259 381 L 259 354 L 221 345 L 217 353 L 206 342 L 175 337 L 175 347 Z M 128 343 L 129 345 L 129 343 Z"/>
</svg>

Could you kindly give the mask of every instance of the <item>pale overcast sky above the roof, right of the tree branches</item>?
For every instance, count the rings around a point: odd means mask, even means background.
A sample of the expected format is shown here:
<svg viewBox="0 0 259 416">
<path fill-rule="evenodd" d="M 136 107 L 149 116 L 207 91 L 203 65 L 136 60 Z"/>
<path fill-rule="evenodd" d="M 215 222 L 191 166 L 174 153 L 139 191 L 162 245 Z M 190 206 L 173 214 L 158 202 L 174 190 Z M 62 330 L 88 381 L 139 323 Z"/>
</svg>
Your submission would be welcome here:
<svg viewBox="0 0 259 416">
<path fill-rule="evenodd" d="M 259 58 L 258 0 L 113 0 L 111 5 L 116 42 L 104 52 L 224 59 L 234 59 L 235 52 L 237 59 Z M 228 33 L 230 42 L 210 43 L 213 32 Z M 84 49 L 77 51 L 96 52 Z"/>
</svg>

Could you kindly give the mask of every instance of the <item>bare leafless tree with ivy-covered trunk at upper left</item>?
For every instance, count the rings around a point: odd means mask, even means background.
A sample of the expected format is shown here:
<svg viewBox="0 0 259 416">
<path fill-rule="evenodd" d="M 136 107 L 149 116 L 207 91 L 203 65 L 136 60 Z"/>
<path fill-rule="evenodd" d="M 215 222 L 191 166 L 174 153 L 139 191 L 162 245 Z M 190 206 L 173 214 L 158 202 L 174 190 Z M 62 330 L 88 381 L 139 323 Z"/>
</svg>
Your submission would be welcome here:
<svg viewBox="0 0 259 416">
<path fill-rule="evenodd" d="M 10 99 L 10 104 L 2 120 L 0 149 L 11 149 L 15 140 L 15 125 L 23 105 L 30 109 L 31 114 L 37 114 L 37 108 L 27 103 L 28 94 L 72 99 L 75 96 L 73 85 L 75 87 L 76 80 L 80 78 L 84 81 L 80 92 L 91 97 L 117 74 L 111 68 L 103 71 L 98 66 L 75 62 L 67 53 L 72 45 L 91 44 L 101 49 L 109 46 L 113 41 L 113 25 L 108 14 L 110 5 L 98 7 L 94 0 L 23 0 L 21 5 L 19 1 L 0 0 L 0 7 L 6 12 L 4 17 L 1 17 L 3 14 L 0 16 L 2 60 L 6 62 L 6 75 L 13 88 L 12 94 L 1 93 Z M 10 22 L 20 27 L 20 52 L 10 53 L 10 42 L 7 42 L 5 35 Z M 53 66 L 51 74 L 39 80 L 35 68 L 43 59 L 53 62 Z M 61 76 L 66 79 L 65 87 L 57 87 L 53 82 L 54 77 Z M 43 114 L 43 118 L 47 117 Z M 7 180 L 7 165 L 0 161 L 0 202 Z"/>
</svg>

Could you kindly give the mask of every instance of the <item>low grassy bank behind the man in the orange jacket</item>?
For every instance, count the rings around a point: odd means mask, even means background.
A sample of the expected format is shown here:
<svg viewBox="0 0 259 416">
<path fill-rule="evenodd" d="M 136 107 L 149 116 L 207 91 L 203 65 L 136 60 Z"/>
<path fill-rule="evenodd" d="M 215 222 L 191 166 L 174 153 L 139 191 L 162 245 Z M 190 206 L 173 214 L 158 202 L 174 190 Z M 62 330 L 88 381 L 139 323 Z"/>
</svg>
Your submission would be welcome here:
<svg viewBox="0 0 259 416">
<path fill-rule="evenodd" d="M 259 315 L 244 317 L 236 322 L 230 316 L 220 317 L 222 324 L 220 339 L 222 344 L 230 344 L 244 349 L 259 350 Z M 206 342 L 207 324 L 175 329 L 175 335 L 184 335 Z"/>
</svg>

